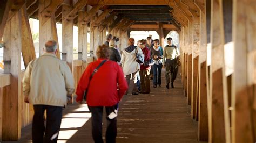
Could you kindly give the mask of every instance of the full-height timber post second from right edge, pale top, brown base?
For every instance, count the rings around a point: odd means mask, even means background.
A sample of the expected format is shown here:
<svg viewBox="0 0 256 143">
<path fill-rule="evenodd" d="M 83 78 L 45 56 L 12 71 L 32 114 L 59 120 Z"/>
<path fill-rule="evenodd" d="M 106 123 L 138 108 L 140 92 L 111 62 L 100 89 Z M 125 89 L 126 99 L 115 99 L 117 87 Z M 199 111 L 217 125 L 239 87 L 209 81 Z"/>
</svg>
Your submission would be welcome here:
<svg viewBox="0 0 256 143">
<path fill-rule="evenodd" d="M 227 79 L 224 62 L 224 22 L 221 0 L 211 1 L 211 72 L 212 136 L 210 142 L 231 142 L 230 118 L 228 113 Z"/>
</svg>

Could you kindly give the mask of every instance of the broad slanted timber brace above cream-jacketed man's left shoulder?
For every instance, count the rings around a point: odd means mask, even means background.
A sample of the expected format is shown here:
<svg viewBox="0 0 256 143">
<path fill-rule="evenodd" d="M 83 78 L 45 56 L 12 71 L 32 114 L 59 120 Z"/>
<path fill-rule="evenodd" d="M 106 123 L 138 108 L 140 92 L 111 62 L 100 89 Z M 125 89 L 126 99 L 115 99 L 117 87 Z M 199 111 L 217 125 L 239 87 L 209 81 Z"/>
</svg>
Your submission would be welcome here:
<svg viewBox="0 0 256 143">
<path fill-rule="evenodd" d="M 26 13 L 25 5 L 22 6 L 22 56 L 25 68 L 30 61 L 36 59 L 35 47 L 29 25 L 29 17 Z"/>
</svg>

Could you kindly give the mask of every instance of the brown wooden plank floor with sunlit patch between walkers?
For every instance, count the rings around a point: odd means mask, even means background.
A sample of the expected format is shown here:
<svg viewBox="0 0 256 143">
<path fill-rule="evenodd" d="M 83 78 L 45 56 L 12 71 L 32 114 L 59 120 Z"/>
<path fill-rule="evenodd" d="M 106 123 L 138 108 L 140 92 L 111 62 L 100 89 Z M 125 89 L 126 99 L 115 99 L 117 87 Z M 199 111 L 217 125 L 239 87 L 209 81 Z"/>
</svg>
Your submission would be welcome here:
<svg viewBox="0 0 256 143">
<path fill-rule="evenodd" d="M 152 87 L 152 81 L 151 81 Z M 125 95 L 119 105 L 117 142 L 198 142 L 196 125 L 178 75 L 174 89 L 151 88 L 150 94 Z M 93 142 L 87 105 L 64 109 L 58 142 Z M 103 134 L 106 130 L 104 115 Z M 22 130 L 19 142 L 31 142 L 31 125 Z"/>
</svg>

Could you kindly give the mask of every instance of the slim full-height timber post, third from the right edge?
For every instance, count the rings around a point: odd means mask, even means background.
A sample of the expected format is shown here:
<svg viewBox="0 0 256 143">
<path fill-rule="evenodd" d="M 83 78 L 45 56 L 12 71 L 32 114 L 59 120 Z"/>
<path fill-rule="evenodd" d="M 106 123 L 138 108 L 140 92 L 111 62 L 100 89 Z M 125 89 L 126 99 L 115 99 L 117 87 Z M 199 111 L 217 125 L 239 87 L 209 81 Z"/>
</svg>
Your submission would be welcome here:
<svg viewBox="0 0 256 143">
<path fill-rule="evenodd" d="M 197 1 L 198 2 L 198 1 Z M 208 141 L 208 110 L 207 110 L 207 31 L 206 31 L 206 1 L 201 0 L 196 3 L 200 8 L 200 46 L 199 46 L 199 119 L 198 119 L 198 139 Z"/>
</svg>

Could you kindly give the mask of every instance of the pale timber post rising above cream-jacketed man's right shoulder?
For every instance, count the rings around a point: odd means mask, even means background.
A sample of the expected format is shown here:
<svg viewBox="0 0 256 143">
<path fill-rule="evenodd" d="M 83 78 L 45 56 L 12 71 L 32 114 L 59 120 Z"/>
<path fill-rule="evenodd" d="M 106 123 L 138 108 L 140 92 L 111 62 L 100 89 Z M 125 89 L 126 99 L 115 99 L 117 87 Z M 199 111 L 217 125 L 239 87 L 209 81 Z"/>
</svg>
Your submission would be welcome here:
<svg viewBox="0 0 256 143">
<path fill-rule="evenodd" d="M 69 4 L 62 5 L 62 60 L 66 61 L 73 71 L 73 19 L 66 19 L 70 11 Z"/>
</svg>

